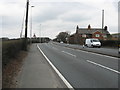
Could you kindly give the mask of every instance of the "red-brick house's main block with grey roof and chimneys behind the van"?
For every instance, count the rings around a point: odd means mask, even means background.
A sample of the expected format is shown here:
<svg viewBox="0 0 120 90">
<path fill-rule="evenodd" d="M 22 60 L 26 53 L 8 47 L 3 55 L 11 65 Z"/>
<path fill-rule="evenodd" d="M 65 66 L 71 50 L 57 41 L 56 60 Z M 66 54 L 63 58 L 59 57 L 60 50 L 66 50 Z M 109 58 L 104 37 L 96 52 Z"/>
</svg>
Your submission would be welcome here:
<svg viewBox="0 0 120 90">
<path fill-rule="evenodd" d="M 88 28 L 76 28 L 76 34 L 79 34 L 80 37 L 84 38 L 97 38 L 97 39 L 106 39 L 110 33 L 107 30 L 107 26 L 102 28 L 91 28 L 88 25 Z"/>
</svg>

